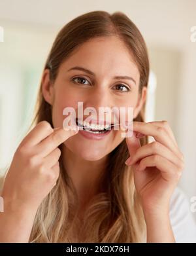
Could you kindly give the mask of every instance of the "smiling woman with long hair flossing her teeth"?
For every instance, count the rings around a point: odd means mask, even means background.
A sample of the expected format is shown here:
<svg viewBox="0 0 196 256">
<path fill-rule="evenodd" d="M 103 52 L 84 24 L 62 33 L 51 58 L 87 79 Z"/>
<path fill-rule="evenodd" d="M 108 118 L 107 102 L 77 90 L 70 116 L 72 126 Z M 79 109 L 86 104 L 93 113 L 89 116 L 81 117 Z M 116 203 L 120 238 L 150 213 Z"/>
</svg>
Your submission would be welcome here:
<svg viewBox="0 0 196 256">
<path fill-rule="evenodd" d="M 186 199 L 176 192 L 184 156 L 167 121 L 144 122 L 148 75 L 144 39 L 122 12 L 89 12 L 59 31 L 42 74 L 36 125 L 3 184 L 1 242 L 193 238 Z M 63 109 L 77 110 L 79 101 L 133 107 L 133 136 L 64 130 Z"/>
</svg>

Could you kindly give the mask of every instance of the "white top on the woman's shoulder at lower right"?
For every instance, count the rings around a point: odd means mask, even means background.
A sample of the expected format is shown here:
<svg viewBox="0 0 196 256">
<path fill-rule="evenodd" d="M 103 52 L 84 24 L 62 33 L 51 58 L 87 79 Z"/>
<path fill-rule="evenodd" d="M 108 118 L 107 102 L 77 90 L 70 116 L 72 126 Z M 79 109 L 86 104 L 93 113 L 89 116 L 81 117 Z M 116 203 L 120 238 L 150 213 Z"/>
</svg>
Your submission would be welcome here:
<svg viewBox="0 0 196 256">
<path fill-rule="evenodd" d="M 188 196 L 176 187 L 170 202 L 170 219 L 176 242 L 196 242 L 196 220 Z"/>
</svg>

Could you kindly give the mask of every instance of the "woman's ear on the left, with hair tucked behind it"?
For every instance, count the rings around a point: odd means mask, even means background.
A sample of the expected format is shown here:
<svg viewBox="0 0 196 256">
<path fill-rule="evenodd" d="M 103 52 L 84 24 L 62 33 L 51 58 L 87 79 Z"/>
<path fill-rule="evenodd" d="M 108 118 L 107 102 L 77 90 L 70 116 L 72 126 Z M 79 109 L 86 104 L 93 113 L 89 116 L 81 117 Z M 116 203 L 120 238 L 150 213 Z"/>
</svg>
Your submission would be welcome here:
<svg viewBox="0 0 196 256">
<path fill-rule="evenodd" d="M 54 85 L 50 81 L 50 70 L 45 69 L 42 75 L 42 96 L 44 100 L 48 102 L 50 105 L 53 103 L 54 99 Z"/>
</svg>

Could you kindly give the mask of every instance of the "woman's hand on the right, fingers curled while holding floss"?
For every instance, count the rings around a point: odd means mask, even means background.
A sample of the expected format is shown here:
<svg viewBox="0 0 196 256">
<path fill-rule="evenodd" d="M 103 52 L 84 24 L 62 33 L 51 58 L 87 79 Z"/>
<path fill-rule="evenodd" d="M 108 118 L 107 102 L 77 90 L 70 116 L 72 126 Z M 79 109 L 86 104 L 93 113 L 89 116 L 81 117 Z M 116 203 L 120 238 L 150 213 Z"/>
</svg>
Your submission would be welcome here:
<svg viewBox="0 0 196 256">
<path fill-rule="evenodd" d="M 155 141 L 141 147 L 139 138 L 152 136 Z M 133 121 L 133 136 L 126 137 L 130 157 L 126 164 L 133 166 L 135 187 L 144 211 L 169 213 L 169 202 L 182 170 L 184 156 L 167 121 Z"/>
</svg>

